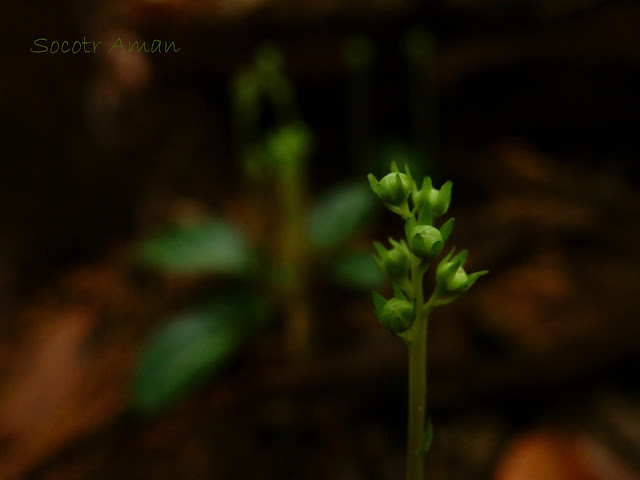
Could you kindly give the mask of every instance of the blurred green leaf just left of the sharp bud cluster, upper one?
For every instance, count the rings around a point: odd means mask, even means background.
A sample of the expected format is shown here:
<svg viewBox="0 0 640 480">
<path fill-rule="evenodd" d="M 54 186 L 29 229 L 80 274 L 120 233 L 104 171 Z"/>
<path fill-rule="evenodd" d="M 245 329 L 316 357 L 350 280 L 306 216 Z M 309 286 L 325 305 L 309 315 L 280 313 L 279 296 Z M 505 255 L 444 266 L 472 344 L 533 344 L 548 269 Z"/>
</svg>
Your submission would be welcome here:
<svg viewBox="0 0 640 480">
<path fill-rule="evenodd" d="M 344 185 L 327 192 L 309 214 L 312 245 L 319 249 L 339 246 L 364 224 L 375 204 L 375 195 L 366 183 Z"/>
</svg>

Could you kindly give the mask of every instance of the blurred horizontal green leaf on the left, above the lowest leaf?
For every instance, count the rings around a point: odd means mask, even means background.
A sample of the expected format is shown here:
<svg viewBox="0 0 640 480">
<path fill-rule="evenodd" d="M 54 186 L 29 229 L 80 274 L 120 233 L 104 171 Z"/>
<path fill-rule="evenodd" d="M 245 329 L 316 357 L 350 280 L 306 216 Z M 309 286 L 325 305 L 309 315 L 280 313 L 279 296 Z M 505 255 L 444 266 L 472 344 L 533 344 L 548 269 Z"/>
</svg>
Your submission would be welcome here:
<svg viewBox="0 0 640 480">
<path fill-rule="evenodd" d="M 246 272 L 254 260 L 244 234 L 221 220 L 172 227 L 144 242 L 142 260 L 170 273 Z"/>
</svg>

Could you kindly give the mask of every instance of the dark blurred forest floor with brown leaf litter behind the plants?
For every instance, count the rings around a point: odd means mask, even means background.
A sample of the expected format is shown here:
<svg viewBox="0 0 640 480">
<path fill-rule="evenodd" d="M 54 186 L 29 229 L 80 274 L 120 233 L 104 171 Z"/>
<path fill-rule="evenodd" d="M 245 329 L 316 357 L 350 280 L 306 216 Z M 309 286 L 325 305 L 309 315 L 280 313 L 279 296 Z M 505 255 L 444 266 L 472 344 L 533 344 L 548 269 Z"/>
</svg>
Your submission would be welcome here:
<svg viewBox="0 0 640 480">
<path fill-rule="evenodd" d="M 318 282 L 312 361 L 265 355 L 276 326 L 168 412 L 135 415 L 140 345 L 191 285 L 132 252 L 185 212 L 241 215 L 229 81 L 265 40 L 315 135 L 310 195 L 383 174 L 384 144 L 412 138 L 416 27 L 435 41 L 425 170 L 453 180 L 456 243 L 491 271 L 432 321 L 429 478 L 639 478 L 637 2 L 85 3 L 0 19 L 1 478 L 402 478 L 405 353 L 367 292 Z M 181 51 L 29 52 L 120 34 Z M 370 164 L 349 153 L 353 34 L 374 46 Z"/>
</svg>

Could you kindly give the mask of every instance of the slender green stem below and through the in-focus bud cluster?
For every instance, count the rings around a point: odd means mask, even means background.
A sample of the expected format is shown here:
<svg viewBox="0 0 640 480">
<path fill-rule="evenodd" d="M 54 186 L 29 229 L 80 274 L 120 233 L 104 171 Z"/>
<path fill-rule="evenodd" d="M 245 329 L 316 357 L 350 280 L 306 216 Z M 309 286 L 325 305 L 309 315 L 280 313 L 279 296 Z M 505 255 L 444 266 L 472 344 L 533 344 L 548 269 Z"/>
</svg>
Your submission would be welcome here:
<svg viewBox="0 0 640 480">
<path fill-rule="evenodd" d="M 425 305 L 422 279 L 425 270 L 414 261 L 411 267 L 416 322 L 409 347 L 409 411 L 407 424 L 406 479 L 424 480 L 424 453 L 420 451 L 425 434 L 427 403 L 427 330 L 429 303 Z"/>
</svg>

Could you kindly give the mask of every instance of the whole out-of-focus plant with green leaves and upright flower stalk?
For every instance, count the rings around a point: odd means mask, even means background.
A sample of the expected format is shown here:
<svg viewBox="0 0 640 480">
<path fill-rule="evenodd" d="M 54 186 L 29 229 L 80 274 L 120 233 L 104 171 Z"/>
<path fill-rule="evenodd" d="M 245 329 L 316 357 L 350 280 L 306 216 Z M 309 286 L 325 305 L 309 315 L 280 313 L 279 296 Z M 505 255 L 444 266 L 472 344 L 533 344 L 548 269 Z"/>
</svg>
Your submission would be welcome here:
<svg viewBox="0 0 640 480">
<path fill-rule="evenodd" d="M 335 187 L 307 208 L 304 170 L 311 134 L 298 119 L 282 64 L 280 52 L 264 45 L 253 65 L 232 81 L 234 140 L 253 210 L 249 217 L 259 223 L 252 225 L 253 235 L 209 219 L 171 227 L 140 247 L 142 261 L 165 273 L 218 275 L 228 285 L 151 336 L 134 383 L 139 410 L 157 411 L 210 378 L 278 313 L 285 319 L 286 351 L 306 355 L 312 266 L 355 288 L 384 281 L 370 255 L 345 245 L 373 212 L 366 185 Z M 277 123 L 269 129 L 260 125 L 265 101 Z"/>
</svg>

